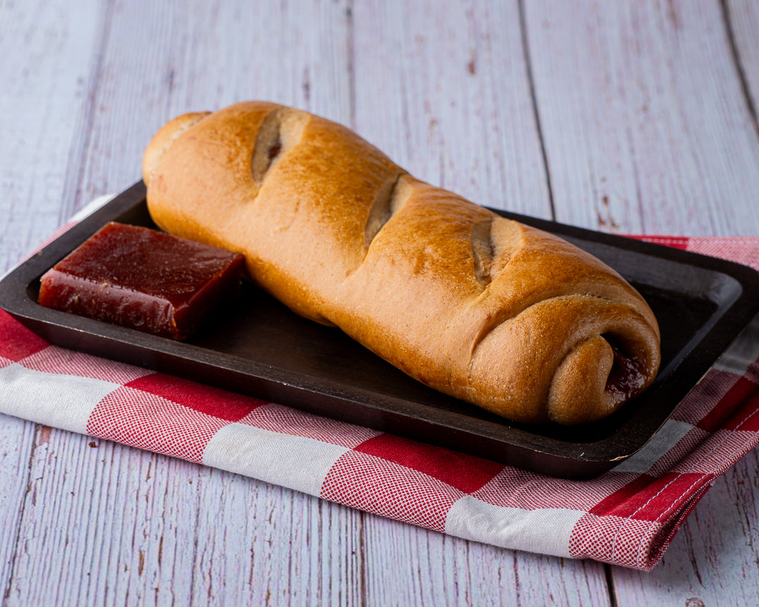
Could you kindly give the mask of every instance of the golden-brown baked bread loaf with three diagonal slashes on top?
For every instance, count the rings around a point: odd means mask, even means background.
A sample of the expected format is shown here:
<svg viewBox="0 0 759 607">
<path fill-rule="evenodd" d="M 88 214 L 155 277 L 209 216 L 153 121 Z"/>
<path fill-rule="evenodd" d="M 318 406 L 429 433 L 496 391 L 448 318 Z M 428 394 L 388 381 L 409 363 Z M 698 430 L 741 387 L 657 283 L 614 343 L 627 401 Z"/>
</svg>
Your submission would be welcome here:
<svg viewBox="0 0 759 607">
<path fill-rule="evenodd" d="M 657 320 L 598 259 L 267 102 L 187 114 L 143 158 L 160 228 L 245 256 L 294 312 L 512 420 L 598 420 L 653 381 Z"/>
</svg>

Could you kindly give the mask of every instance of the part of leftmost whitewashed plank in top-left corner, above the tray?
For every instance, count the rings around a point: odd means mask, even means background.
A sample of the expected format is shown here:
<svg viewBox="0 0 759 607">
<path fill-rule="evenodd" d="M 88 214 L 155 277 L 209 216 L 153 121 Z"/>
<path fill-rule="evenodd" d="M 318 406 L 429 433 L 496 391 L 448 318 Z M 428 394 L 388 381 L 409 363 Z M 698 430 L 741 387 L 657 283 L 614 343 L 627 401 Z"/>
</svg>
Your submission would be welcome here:
<svg viewBox="0 0 759 607">
<path fill-rule="evenodd" d="M 0 5 L 0 273 L 58 227 L 99 18 L 97 2 Z"/>
</svg>

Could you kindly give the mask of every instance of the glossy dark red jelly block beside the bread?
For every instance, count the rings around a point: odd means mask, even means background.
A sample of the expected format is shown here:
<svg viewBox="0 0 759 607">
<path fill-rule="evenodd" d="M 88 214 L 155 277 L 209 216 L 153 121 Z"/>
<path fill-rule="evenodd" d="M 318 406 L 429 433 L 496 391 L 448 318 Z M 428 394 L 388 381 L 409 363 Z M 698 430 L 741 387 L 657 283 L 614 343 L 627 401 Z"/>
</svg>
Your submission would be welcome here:
<svg viewBox="0 0 759 607">
<path fill-rule="evenodd" d="M 243 256 L 109 223 L 42 277 L 39 304 L 174 339 L 238 294 Z"/>
</svg>

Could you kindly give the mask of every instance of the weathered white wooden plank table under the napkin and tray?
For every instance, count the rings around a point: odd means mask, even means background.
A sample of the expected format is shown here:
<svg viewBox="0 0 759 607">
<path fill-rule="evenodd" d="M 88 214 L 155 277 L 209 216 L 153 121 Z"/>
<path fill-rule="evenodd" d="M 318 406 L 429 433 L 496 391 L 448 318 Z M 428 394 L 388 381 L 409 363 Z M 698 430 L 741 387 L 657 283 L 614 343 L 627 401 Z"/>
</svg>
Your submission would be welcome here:
<svg viewBox="0 0 759 607">
<path fill-rule="evenodd" d="M 0 2 L 0 271 L 243 99 L 354 128 L 471 200 L 759 235 L 759 3 Z M 759 458 L 643 574 L 496 549 L 0 416 L 2 605 L 755 605 Z M 691 601 L 691 602 L 688 602 Z"/>
</svg>

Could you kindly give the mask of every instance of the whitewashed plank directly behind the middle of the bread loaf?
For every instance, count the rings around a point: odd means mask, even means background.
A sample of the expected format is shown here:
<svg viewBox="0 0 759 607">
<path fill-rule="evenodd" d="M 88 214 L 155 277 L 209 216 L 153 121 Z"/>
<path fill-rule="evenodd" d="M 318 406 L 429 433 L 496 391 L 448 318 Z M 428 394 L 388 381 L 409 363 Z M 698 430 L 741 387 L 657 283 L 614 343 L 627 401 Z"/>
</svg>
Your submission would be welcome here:
<svg viewBox="0 0 759 607">
<path fill-rule="evenodd" d="M 357 3 L 353 21 L 359 133 L 417 178 L 550 217 L 516 2 Z"/>
</svg>

